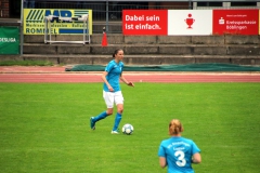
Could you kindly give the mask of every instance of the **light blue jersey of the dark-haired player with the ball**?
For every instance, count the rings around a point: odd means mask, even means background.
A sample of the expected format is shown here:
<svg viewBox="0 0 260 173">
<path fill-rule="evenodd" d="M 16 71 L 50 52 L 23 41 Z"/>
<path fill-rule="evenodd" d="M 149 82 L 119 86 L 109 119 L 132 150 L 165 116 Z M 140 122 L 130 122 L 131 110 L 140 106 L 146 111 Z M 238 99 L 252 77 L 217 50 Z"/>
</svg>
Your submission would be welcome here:
<svg viewBox="0 0 260 173">
<path fill-rule="evenodd" d="M 119 85 L 119 78 L 121 76 L 122 68 L 123 68 L 123 63 L 122 62 L 116 63 L 114 59 L 110 61 L 105 68 L 105 71 L 108 72 L 106 76 L 106 80 L 114 89 L 114 92 L 121 90 Z M 103 89 L 105 92 L 109 91 L 105 83 Z"/>
</svg>

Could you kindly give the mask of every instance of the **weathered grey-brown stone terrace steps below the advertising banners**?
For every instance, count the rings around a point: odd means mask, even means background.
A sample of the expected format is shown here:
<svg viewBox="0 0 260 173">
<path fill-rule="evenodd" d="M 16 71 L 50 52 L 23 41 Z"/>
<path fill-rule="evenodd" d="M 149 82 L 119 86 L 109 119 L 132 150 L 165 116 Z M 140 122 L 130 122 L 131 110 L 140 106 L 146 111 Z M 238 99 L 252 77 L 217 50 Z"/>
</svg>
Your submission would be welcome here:
<svg viewBox="0 0 260 173">
<path fill-rule="evenodd" d="M 23 55 L 1 55 L 0 61 L 49 61 L 53 64 L 105 65 L 115 49 L 125 50 L 127 65 L 225 63 L 260 65 L 259 36 L 90 36 L 91 43 L 44 43 L 44 36 L 25 36 Z M 53 40 L 80 40 L 82 36 L 53 36 Z"/>
</svg>

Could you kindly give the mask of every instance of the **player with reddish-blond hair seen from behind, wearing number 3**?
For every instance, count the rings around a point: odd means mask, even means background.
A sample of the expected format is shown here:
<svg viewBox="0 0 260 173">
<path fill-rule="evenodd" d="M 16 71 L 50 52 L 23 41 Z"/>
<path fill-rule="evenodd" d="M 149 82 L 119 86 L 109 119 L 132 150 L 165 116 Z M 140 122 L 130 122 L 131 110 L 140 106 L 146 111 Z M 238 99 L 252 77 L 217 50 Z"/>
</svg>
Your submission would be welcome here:
<svg viewBox="0 0 260 173">
<path fill-rule="evenodd" d="M 168 167 L 168 173 L 194 173 L 192 163 L 200 163 L 200 149 L 188 138 L 181 136 L 183 127 L 180 120 L 173 119 L 169 123 L 170 138 L 164 139 L 159 146 L 159 164 Z"/>
</svg>

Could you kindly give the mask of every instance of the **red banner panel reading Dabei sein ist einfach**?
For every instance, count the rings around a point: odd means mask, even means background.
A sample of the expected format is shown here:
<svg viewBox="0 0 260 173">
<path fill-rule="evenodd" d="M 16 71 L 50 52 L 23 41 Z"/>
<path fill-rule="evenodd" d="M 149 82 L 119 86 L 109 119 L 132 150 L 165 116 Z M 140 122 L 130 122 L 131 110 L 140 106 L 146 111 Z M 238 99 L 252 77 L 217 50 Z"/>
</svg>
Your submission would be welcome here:
<svg viewBox="0 0 260 173">
<path fill-rule="evenodd" d="M 167 35 L 167 10 L 123 10 L 123 35 Z"/>
</svg>

